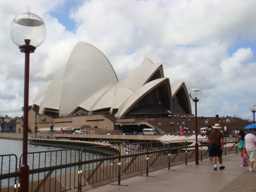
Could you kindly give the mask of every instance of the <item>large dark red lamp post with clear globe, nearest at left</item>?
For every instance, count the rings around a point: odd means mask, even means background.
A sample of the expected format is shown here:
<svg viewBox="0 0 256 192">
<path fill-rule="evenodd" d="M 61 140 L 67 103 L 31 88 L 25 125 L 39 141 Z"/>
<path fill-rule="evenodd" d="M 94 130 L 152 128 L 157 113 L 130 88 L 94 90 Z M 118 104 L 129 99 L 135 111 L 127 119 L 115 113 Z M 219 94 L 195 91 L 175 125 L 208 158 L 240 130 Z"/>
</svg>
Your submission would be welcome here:
<svg viewBox="0 0 256 192">
<path fill-rule="evenodd" d="M 12 20 L 10 36 L 19 47 L 20 52 L 25 53 L 24 72 L 24 104 L 23 104 L 23 152 L 22 165 L 20 166 L 20 191 L 29 191 L 29 166 L 27 164 L 28 153 L 28 107 L 29 107 L 29 55 L 35 52 L 46 37 L 44 21 L 37 15 L 22 13 Z"/>
</svg>

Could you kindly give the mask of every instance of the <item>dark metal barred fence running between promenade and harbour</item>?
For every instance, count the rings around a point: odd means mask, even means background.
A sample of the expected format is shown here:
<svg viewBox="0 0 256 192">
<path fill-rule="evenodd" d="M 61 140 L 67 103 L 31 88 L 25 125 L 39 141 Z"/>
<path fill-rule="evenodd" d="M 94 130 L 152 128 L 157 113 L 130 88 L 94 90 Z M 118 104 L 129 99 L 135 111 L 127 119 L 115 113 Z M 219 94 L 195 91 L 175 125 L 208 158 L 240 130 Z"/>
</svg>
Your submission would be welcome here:
<svg viewBox="0 0 256 192">
<path fill-rule="evenodd" d="M 128 177 L 148 176 L 158 169 L 194 161 L 194 143 L 195 140 L 156 141 L 29 153 L 29 190 L 81 192 L 116 181 L 121 185 L 121 180 Z M 202 161 L 208 154 L 208 140 L 199 139 L 198 143 Z M 237 143 L 236 138 L 225 137 L 224 153 L 237 152 Z M 0 155 L 1 168 L 15 167 L 6 172 L 1 169 L 2 192 L 19 191 L 17 157 L 8 160 L 13 157 L 14 154 Z"/>
</svg>

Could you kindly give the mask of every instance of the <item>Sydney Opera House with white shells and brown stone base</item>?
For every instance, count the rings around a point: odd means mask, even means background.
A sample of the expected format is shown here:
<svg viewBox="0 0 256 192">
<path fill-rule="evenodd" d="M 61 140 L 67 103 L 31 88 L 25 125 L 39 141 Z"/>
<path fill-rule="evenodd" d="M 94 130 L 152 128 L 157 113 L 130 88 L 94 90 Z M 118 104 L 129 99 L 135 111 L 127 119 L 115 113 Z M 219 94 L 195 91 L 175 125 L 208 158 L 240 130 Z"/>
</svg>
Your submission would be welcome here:
<svg viewBox="0 0 256 192">
<path fill-rule="evenodd" d="M 174 113 L 192 113 L 189 95 L 185 83 L 170 84 L 162 64 L 145 58 L 119 80 L 99 49 L 78 42 L 67 64 L 35 97 L 29 129 L 107 130 L 108 126 L 114 130 L 122 119 L 164 118 Z"/>
</svg>

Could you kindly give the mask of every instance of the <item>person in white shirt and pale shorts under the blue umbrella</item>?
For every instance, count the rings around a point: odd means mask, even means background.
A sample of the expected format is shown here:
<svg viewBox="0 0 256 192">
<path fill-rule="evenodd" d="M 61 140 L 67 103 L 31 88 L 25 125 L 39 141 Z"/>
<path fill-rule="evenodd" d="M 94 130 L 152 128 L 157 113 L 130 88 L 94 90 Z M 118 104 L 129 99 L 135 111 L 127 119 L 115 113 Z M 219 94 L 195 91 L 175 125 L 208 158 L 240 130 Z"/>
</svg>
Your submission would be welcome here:
<svg viewBox="0 0 256 192">
<path fill-rule="evenodd" d="M 250 129 L 250 133 L 244 137 L 244 150 L 249 157 L 249 172 L 254 172 L 253 164 L 256 157 L 256 128 Z"/>
</svg>

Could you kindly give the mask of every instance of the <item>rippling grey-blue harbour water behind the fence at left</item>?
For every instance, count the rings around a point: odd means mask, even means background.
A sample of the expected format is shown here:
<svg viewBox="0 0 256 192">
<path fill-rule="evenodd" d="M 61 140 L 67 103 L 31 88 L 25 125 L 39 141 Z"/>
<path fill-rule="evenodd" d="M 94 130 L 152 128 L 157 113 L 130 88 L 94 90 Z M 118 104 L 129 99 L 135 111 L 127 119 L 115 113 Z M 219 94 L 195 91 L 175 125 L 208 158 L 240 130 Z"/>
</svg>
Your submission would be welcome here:
<svg viewBox="0 0 256 192">
<path fill-rule="evenodd" d="M 8 172 L 15 172 L 19 169 L 20 157 L 22 155 L 22 140 L 10 140 L 10 139 L 0 139 L 0 155 L 5 154 L 15 154 L 6 157 L 0 157 L 0 174 L 6 174 Z M 44 151 L 44 152 L 42 152 Z M 79 150 L 80 151 L 80 150 Z M 38 153 L 32 153 L 38 152 Z M 40 152 L 40 153 L 39 153 Z M 100 151 L 99 151 L 100 152 Z M 67 163 L 74 163 L 79 160 L 78 149 L 61 148 L 48 145 L 32 145 L 28 144 L 28 165 L 30 169 L 65 165 Z M 107 154 L 97 153 L 93 151 L 83 151 L 82 155 L 84 160 L 96 159 L 99 157 L 106 157 Z M 17 167 L 15 166 L 17 162 Z M 110 162 L 105 162 L 110 163 Z M 91 166 L 95 167 L 96 163 L 92 163 Z M 90 169 L 89 165 L 84 165 L 83 169 Z M 70 167 L 68 169 L 58 169 L 55 172 L 55 176 L 68 174 L 70 172 L 78 171 L 78 167 Z M 34 177 L 34 178 L 33 178 Z M 35 180 L 35 178 L 42 179 L 45 177 L 45 173 L 34 174 L 29 176 L 29 180 Z M 8 184 L 9 183 L 9 184 Z M 17 183 L 17 181 L 12 178 L 11 180 L 0 181 L 0 187 L 11 186 Z"/>
</svg>

